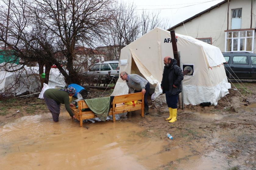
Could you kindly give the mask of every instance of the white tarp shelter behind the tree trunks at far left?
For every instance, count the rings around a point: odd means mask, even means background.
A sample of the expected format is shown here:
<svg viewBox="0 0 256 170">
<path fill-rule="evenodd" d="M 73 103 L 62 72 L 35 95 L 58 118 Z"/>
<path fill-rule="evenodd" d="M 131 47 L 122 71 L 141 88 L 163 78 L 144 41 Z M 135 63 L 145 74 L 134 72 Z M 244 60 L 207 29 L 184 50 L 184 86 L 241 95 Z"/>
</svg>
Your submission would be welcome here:
<svg viewBox="0 0 256 170">
<path fill-rule="evenodd" d="M 3 65 L 2 63 L 1 65 Z M 41 82 L 39 79 L 38 67 L 24 67 L 19 71 L 7 72 L 0 65 L 0 90 L 8 90 L 10 93 L 19 95 L 29 91 L 35 93 L 40 91 Z M 8 64 L 8 68 L 20 68 L 20 65 Z M 51 88 L 55 86 L 64 87 L 66 85 L 63 75 L 57 68 L 51 68 L 48 85 Z"/>
</svg>

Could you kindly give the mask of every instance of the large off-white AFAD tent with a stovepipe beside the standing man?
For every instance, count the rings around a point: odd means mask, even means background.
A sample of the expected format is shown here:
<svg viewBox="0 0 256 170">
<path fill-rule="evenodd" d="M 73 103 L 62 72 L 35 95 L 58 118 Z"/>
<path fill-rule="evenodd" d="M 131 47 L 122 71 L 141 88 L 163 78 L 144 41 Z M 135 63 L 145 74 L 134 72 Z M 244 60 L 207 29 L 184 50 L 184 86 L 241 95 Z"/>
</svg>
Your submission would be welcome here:
<svg viewBox="0 0 256 170">
<path fill-rule="evenodd" d="M 184 103 L 196 105 L 217 101 L 228 94 L 231 88 L 226 78 L 220 49 L 208 43 L 176 33 L 177 48 L 180 51 L 181 68 L 189 65 L 192 75 L 183 79 Z M 173 58 L 169 31 L 155 28 L 121 50 L 120 72 L 139 74 L 155 86 L 155 97 L 162 93 L 160 87 L 164 69 L 163 58 Z M 126 82 L 118 79 L 112 95 L 128 93 Z"/>
</svg>

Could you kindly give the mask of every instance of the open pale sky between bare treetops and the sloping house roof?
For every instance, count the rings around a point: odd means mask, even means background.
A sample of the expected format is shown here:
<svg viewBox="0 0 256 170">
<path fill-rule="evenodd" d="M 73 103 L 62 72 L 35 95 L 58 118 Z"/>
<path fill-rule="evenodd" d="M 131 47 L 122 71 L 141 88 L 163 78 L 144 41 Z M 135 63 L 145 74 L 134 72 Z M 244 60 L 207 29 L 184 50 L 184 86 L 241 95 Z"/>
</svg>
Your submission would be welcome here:
<svg viewBox="0 0 256 170">
<path fill-rule="evenodd" d="M 210 8 L 223 0 L 122 0 L 134 3 L 138 12 L 160 11 L 160 17 L 168 21 L 168 27 L 174 26 L 191 16 Z"/>
</svg>

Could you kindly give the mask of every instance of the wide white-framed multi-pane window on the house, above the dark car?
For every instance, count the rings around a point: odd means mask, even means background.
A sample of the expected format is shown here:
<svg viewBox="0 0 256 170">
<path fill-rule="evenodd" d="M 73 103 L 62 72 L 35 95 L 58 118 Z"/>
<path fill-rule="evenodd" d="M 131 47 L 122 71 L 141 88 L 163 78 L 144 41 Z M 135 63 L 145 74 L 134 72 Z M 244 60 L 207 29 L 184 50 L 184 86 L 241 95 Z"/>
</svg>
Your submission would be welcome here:
<svg viewBox="0 0 256 170">
<path fill-rule="evenodd" d="M 226 32 L 227 51 L 253 51 L 254 30 Z"/>
</svg>

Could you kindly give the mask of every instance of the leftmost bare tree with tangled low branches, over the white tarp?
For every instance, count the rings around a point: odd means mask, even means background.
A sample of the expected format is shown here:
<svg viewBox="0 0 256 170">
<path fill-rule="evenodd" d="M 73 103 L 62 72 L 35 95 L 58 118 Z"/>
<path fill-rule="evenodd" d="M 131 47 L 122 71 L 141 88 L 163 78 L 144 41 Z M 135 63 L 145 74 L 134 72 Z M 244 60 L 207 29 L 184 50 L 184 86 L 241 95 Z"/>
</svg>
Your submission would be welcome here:
<svg viewBox="0 0 256 170">
<path fill-rule="evenodd" d="M 23 70 L 23 67 L 30 62 L 37 62 L 39 64 L 39 74 L 42 74 L 44 73 L 45 65 L 46 78 L 41 78 L 42 86 L 44 82 L 48 83 L 49 80 L 52 61 L 48 60 L 48 58 L 54 56 L 52 47 L 53 36 L 47 28 L 40 25 L 38 15 L 35 18 L 30 17 L 27 3 L 24 0 L 18 2 L 12 1 L 10 3 L 9 9 L 11 10 L 11 15 L 9 16 L 8 39 L 4 39 L 3 37 L 3 34 L 6 33 L 5 29 L 7 30 L 5 28 L 5 14 L 2 13 L 0 15 L 2 21 L 0 23 L 0 41 L 8 45 L 6 53 L 9 53 L 11 50 L 12 55 L 15 56 L 9 63 L 20 58 L 20 64 L 22 65 L 20 68 L 6 69 L 6 71 L 14 72 Z M 19 72 L 21 74 L 21 71 Z"/>
</svg>

